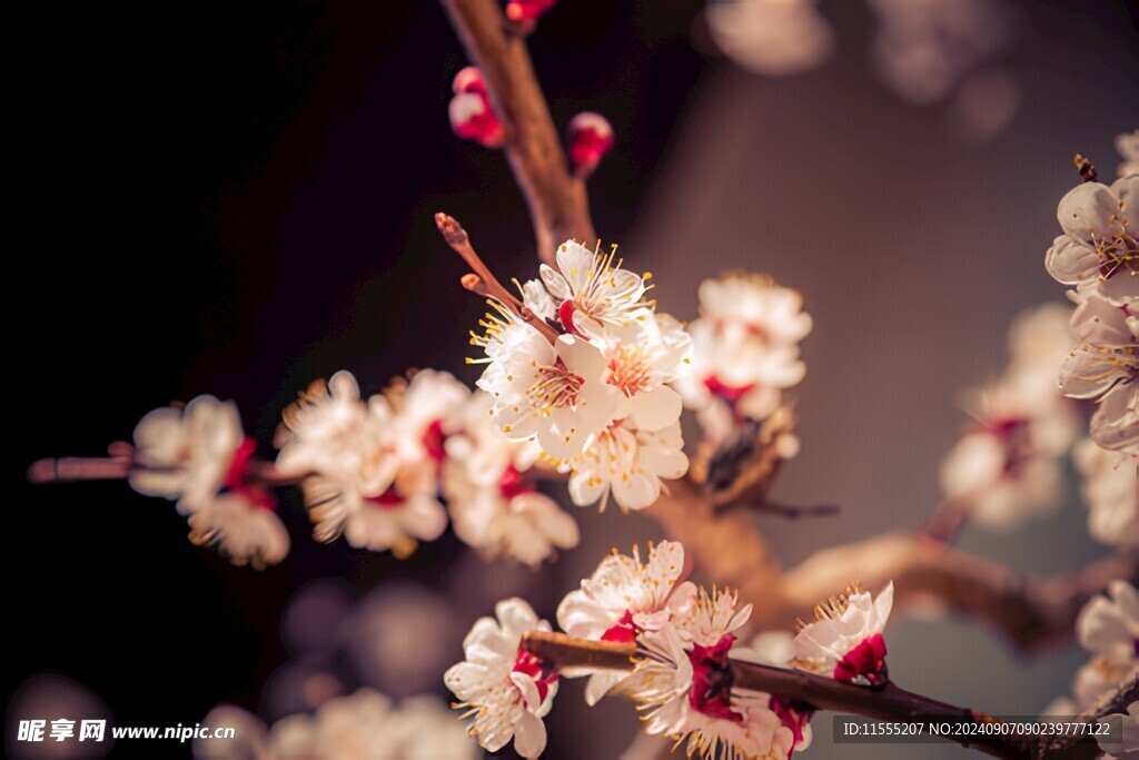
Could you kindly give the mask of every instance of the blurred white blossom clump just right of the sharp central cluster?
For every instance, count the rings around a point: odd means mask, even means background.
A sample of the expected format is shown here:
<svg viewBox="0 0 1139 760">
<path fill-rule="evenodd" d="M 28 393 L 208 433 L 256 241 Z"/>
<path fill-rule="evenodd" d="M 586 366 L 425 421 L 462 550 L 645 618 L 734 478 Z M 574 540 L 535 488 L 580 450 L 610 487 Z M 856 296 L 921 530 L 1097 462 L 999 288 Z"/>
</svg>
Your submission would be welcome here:
<svg viewBox="0 0 1139 760">
<path fill-rule="evenodd" d="M 721 400 L 738 417 L 770 416 L 806 373 L 798 342 L 811 317 L 802 295 L 762 275 L 731 272 L 700 283 L 699 297 L 702 316 L 689 326 L 693 369 L 678 384 L 685 403 L 704 410 Z"/>
</svg>

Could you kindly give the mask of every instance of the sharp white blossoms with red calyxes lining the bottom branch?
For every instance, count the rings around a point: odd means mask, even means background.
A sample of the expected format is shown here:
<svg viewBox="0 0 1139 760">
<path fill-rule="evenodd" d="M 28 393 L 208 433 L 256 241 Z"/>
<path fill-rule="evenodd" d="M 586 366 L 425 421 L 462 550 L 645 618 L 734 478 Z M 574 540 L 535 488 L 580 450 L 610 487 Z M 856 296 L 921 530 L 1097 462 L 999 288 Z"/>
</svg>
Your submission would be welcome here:
<svg viewBox="0 0 1139 760">
<path fill-rule="evenodd" d="M 752 606 L 738 593 L 711 593 L 683 580 L 683 548 L 649 545 L 642 559 L 614 549 L 557 610 L 562 629 L 579 641 L 636 644 L 631 671 L 574 667 L 559 673 L 523 645 L 528 631 L 549 631 L 522 599 L 499 603 L 497 619 L 478 620 L 464 641 L 466 661 L 444 680 L 472 718 L 469 733 L 491 751 L 511 737 L 515 750 L 536 758 L 546 749 L 541 718 L 552 706 L 559 676 L 589 676 L 585 700 L 631 698 L 646 732 L 687 739 L 689 755 L 785 760 L 811 742 L 813 708 L 736 686 L 736 661 L 777 661 L 836 680 L 880 687 L 886 681 L 883 629 L 893 589 L 874 599 L 847 589 L 817 608 L 781 654 L 735 647 Z M 757 639 L 759 644 L 760 639 Z"/>
</svg>

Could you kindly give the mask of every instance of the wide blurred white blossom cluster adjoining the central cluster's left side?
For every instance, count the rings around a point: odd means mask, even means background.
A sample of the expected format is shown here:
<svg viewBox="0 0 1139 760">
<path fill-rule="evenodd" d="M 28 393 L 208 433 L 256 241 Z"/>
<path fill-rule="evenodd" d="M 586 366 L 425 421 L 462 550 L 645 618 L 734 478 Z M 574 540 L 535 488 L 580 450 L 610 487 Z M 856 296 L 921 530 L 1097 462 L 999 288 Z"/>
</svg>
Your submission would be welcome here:
<svg viewBox="0 0 1139 760">
<path fill-rule="evenodd" d="M 536 451 L 486 423 L 489 399 L 425 369 L 367 401 L 341 371 L 285 410 L 277 468 L 301 477 L 318 540 L 407 556 L 458 537 L 535 565 L 577 544 L 577 526 L 525 473 Z M 444 507 L 441 495 L 446 498 Z"/>
</svg>

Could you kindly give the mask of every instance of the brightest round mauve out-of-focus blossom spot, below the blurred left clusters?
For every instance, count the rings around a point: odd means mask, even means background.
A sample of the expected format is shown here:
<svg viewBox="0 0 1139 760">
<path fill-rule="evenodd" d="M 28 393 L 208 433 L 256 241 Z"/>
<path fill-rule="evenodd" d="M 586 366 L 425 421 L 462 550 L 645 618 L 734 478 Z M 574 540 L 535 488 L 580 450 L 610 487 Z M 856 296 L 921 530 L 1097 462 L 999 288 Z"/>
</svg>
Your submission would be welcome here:
<svg viewBox="0 0 1139 760">
<path fill-rule="evenodd" d="M 459 644 L 446 598 L 420 586 L 390 583 L 357 606 L 349 654 L 360 680 L 404 696 L 434 688 Z"/>
</svg>

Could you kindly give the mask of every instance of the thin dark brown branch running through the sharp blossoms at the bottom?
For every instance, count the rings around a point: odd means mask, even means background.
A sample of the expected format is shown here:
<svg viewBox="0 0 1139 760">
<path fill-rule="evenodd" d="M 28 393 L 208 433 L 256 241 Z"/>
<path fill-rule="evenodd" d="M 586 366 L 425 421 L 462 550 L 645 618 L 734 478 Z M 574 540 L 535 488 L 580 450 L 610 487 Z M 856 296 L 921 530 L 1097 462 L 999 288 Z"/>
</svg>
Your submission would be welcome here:
<svg viewBox="0 0 1139 760">
<path fill-rule="evenodd" d="M 558 669 L 631 670 L 637 654 L 634 644 L 592 641 L 543 631 L 531 631 L 524 635 L 521 648 L 538 655 Z M 772 668 L 740 660 L 732 660 L 731 669 L 735 672 L 735 688 L 764 692 L 784 700 L 806 703 L 818 710 L 885 720 L 997 722 L 995 719 L 983 712 L 958 708 L 907 692 L 893 683 L 886 684 L 884 688 L 874 689 L 813 673 Z M 1029 759 L 1033 757 L 1033 747 L 1030 744 L 1001 733 L 994 735 L 965 734 L 947 738 L 998 758 Z"/>
</svg>

